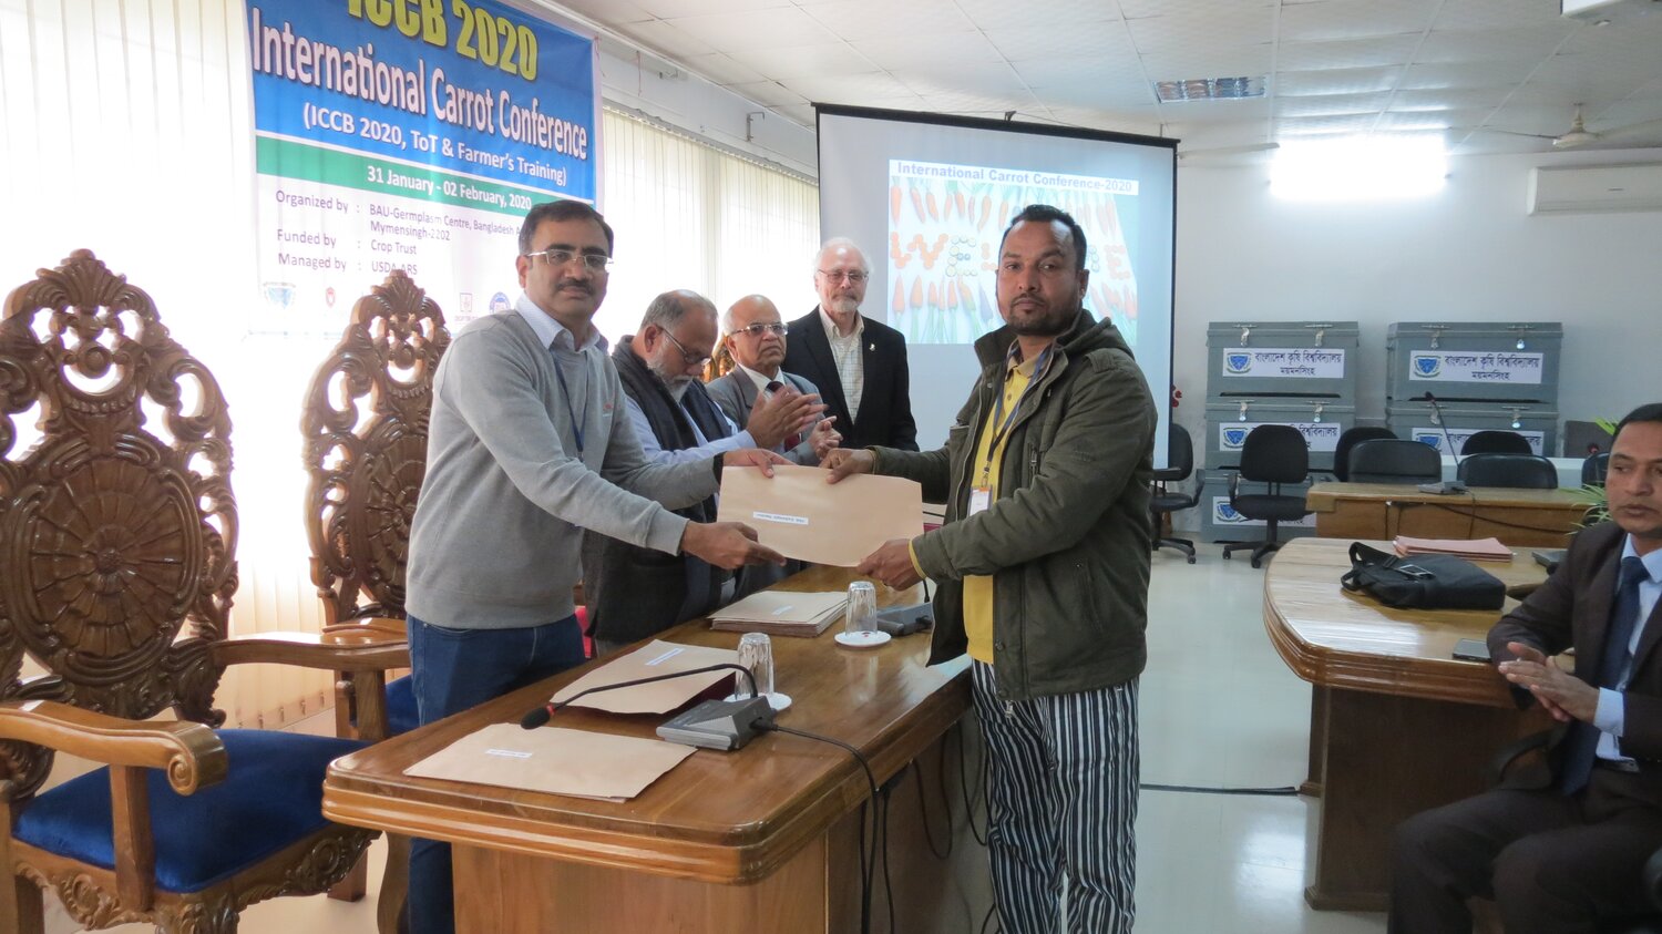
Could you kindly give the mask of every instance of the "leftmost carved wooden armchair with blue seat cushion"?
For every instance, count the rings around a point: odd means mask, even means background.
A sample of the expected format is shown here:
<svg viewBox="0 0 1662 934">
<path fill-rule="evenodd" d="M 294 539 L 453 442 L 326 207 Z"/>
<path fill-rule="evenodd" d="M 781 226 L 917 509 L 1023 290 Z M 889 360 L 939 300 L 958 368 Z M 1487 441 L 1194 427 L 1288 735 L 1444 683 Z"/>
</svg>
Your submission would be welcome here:
<svg viewBox="0 0 1662 934">
<path fill-rule="evenodd" d="M 42 439 L 12 450 L 38 406 Z M 228 932 L 314 894 L 372 831 L 322 818 L 356 740 L 213 730 L 226 665 L 374 673 L 374 638 L 228 638 L 231 422 L 208 369 L 141 289 L 76 251 L 0 319 L 0 931 L 37 934 L 43 889 L 86 927 Z M 23 656 L 47 675 L 22 678 Z M 150 720 L 168 710 L 178 720 Z M 55 751 L 105 763 L 40 791 Z"/>
</svg>

